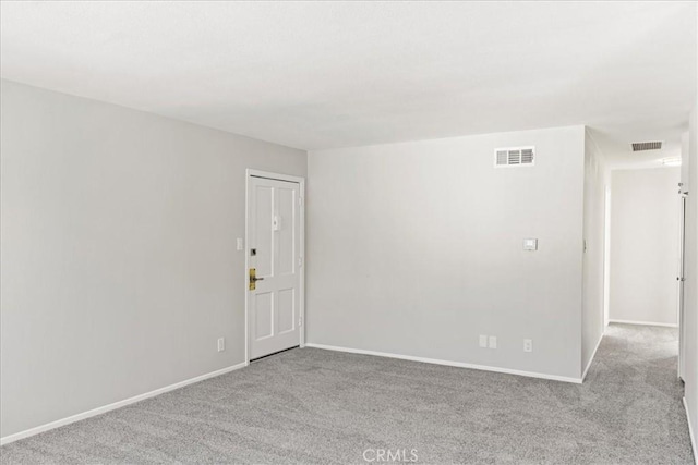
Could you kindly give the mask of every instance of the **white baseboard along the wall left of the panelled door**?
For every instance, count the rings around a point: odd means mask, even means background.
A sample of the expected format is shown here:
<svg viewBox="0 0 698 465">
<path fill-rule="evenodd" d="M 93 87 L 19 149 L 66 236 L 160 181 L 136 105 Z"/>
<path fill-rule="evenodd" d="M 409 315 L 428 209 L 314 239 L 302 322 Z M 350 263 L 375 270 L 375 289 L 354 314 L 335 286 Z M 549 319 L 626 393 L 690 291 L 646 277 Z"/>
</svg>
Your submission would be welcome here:
<svg viewBox="0 0 698 465">
<path fill-rule="evenodd" d="M 230 371 L 234 371 L 234 370 L 243 368 L 245 366 L 248 366 L 248 364 L 243 362 L 241 364 L 233 365 L 233 366 L 230 366 L 230 367 L 227 367 L 227 368 L 222 368 L 222 369 L 219 369 L 217 371 L 212 371 L 212 372 L 208 372 L 208 374 L 205 374 L 205 375 L 197 376 L 195 378 L 190 378 L 190 379 L 186 379 L 184 381 L 176 382 L 174 384 L 166 386 L 165 388 L 156 389 L 155 391 L 151 391 L 151 392 L 146 392 L 144 394 L 135 395 L 133 397 L 124 399 L 123 401 L 119 401 L 119 402 L 115 402 L 115 403 L 109 404 L 109 405 L 104 405 L 101 407 L 93 408 L 91 411 L 83 412 L 83 413 L 76 414 L 76 415 L 72 415 L 72 416 L 69 416 L 67 418 L 61 418 L 61 419 L 58 419 L 56 421 L 47 423 L 47 424 L 41 425 L 41 426 L 37 426 L 37 427 L 34 427 L 34 428 L 25 429 L 24 431 L 15 432 L 14 435 L 9 435 L 9 436 L 5 436 L 3 438 L 0 438 L 0 445 L 9 444 L 10 442 L 19 441 L 20 439 L 28 438 L 31 436 L 35 436 L 35 435 L 38 435 L 40 432 L 48 431 L 50 429 L 55 429 L 55 428 L 58 428 L 58 427 L 61 427 L 61 426 L 64 426 L 64 425 L 70 425 L 71 423 L 80 421 L 80 420 L 85 419 L 85 418 L 94 417 L 96 415 L 101 415 L 101 414 L 107 413 L 109 411 L 113 411 L 116 408 L 124 407 L 127 405 L 134 404 L 136 402 L 144 401 L 144 400 L 149 399 L 149 397 L 155 397 L 156 395 L 160 395 L 160 394 L 164 394 L 166 392 L 173 391 L 176 389 L 183 388 L 185 386 L 193 384 L 195 382 L 203 381 L 203 380 L 208 379 L 208 378 L 215 378 L 217 376 L 225 375 L 225 374 L 230 372 Z"/>
</svg>

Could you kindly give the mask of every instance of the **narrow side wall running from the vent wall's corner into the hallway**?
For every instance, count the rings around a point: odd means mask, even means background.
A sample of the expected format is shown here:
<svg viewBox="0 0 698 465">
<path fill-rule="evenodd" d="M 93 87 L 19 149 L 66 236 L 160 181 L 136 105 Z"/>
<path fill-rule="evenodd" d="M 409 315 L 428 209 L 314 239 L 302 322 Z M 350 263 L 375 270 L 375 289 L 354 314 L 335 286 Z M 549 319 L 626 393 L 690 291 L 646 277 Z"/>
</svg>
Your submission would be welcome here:
<svg viewBox="0 0 698 465">
<path fill-rule="evenodd" d="M 609 170 L 603 154 L 589 132 L 585 137 L 585 221 L 581 366 L 586 369 L 604 329 L 605 187 Z"/>
</svg>

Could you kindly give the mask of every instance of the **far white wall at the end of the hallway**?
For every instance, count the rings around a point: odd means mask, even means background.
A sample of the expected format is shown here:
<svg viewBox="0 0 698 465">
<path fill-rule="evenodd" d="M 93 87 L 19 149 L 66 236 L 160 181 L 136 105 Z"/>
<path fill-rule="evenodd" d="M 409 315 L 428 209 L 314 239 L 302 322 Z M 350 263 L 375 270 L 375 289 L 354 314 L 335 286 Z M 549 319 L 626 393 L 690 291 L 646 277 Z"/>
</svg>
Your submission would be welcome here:
<svg viewBox="0 0 698 465">
<path fill-rule="evenodd" d="M 611 320 L 677 323 L 679 168 L 614 170 Z"/>
</svg>

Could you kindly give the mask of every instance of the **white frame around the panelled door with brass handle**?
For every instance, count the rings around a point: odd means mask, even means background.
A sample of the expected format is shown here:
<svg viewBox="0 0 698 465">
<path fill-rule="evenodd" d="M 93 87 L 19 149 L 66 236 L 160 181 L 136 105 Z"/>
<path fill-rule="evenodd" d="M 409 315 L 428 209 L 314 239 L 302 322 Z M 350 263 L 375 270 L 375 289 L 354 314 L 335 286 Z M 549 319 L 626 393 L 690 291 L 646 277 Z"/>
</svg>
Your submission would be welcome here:
<svg viewBox="0 0 698 465">
<path fill-rule="evenodd" d="M 267 180 L 288 181 L 298 183 L 299 185 L 299 199 L 300 199 L 300 242 L 301 249 L 299 256 L 301 258 L 300 266 L 300 346 L 305 346 L 305 178 L 292 176 L 290 174 L 273 173 L 269 171 L 253 170 L 248 168 L 244 176 L 244 364 L 250 365 L 250 316 L 249 316 L 249 301 L 250 291 L 248 290 L 248 270 L 250 269 L 250 179 L 251 178 L 264 178 Z"/>
</svg>

